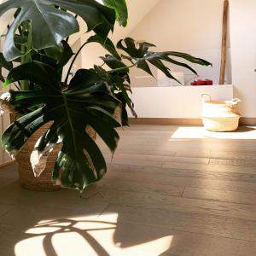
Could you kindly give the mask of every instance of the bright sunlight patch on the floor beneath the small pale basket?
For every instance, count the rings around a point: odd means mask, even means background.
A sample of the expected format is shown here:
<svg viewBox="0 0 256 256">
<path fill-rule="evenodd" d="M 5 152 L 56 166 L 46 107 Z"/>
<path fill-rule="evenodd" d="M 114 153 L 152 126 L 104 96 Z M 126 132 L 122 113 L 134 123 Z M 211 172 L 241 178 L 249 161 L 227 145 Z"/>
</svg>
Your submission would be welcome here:
<svg viewBox="0 0 256 256">
<path fill-rule="evenodd" d="M 256 127 L 255 126 L 241 126 L 237 131 L 232 132 L 214 132 L 207 131 L 204 127 L 196 126 L 183 126 L 178 127 L 177 131 L 174 131 L 169 141 L 173 139 L 204 139 L 204 138 L 217 138 L 217 139 L 256 139 Z"/>
</svg>

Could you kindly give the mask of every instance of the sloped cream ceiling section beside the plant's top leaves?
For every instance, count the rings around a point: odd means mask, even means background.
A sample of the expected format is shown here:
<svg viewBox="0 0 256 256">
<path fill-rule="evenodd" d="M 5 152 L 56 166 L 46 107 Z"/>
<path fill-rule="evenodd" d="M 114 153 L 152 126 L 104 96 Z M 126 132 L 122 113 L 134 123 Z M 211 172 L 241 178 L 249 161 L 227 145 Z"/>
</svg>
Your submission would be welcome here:
<svg viewBox="0 0 256 256">
<path fill-rule="evenodd" d="M 109 37 L 112 38 L 113 42 L 116 43 L 119 38 L 127 37 L 132 30 L 137 26 L 137 24 L 143 20 L 143 18 L 148 15 L 151 9 L 159 3 L 160 0 L 126 0 L 128 10 L 129 10 L 129 20 L 128 26 L 120 27 L 116 24 L 114 29 L 114 34 Z M 74 44 L 79 38 L 86 38 L 88 35 L 84 35 L 86 31 L 86 24 L 83 20 L 79 20 L 80 32 L 73 35 L 70 39 L 70 44 Z"/>
</svg>

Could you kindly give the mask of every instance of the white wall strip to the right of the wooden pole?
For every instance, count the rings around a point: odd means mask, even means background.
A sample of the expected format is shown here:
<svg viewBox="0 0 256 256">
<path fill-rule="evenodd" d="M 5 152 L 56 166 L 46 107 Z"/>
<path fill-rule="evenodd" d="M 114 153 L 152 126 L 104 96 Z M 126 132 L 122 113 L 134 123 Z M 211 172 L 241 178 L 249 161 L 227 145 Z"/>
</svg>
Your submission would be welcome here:
<svg viewBox="0 0 256 256">
<path fill-rule="evenodd" d="M 230 0 L 230 43 L 235 94 L 241 113 L 256 118 L 256 1 Z"/>
</svg>

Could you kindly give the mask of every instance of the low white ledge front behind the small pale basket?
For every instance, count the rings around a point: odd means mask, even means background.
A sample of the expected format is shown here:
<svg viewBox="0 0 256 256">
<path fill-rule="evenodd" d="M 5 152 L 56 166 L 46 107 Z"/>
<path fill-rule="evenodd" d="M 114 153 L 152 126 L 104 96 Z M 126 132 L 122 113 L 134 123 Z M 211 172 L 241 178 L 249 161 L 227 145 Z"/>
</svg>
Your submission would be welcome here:
<svg viewBox="0 0 256 256">
<path fill-rule="evenodd" d="M 137 87 L 133 88 L 132 101 L 139 118 L 200 119 L 202 94 L 215 100 L 231 100 L 233 86 Z"/>
</svg>

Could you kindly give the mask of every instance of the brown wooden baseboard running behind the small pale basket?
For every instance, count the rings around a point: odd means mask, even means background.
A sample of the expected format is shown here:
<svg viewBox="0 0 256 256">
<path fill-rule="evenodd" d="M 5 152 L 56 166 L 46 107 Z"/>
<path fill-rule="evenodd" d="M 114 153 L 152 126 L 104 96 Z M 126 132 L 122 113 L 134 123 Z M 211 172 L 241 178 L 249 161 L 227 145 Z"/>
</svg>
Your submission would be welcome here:
<svg viewBox="0 0 256 256">
<path fill-rule="evenodd" d="M 131 125 L 191 125 L 201 126 L 201 119 L 130 118 Z M 256 125 L 256 118 L 241 118 L 240 125 Z"/>
</svg>

